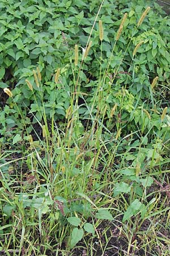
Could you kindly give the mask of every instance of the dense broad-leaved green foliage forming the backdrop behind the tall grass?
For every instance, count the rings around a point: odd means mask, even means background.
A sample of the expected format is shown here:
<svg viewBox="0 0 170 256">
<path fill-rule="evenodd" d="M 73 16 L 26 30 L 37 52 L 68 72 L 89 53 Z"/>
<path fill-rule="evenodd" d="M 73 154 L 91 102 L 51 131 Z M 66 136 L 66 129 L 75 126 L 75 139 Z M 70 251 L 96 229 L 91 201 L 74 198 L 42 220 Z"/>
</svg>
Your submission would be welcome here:
<svg viewBox="0 0 170 256">
<path fill-rule="evenodd" d="M 86 47 L 98 11 L 96 3 L 97 1 L 22 1 L 22 3 L 15 1 L 12 4 L 10 1 L 10 4 L 7 5 L 6 1 L 1 1 L 0 79 L 2 82 L 0 86 L 1 88 L 10 86 L 10 89 L 13 89 L 14 101 L 22 110 L 23 117 L 27 115 L 25 122 L 28 125 L 30 118 L 28 118 L 28 110 L 25 106 L 29 107 L 31 113 L 37 111 L 37 106 L 25 79 L 29 79 L 36 90 L 32 71 L 36 69 L 37 65 L 45 81 L 43 95 L 46 115 L 51 118 L 50 109 L 54 107 L 55 119 L 65 117 L 65 110 L 69 107 L 70 93 L 74 91 L 71 66 L 71 61 L 74 59 L 74 46 L 78 44 L 80 51 L 81 47 Z M 158 10 L 158 5 L 155 4 L 155 8 Z M 131 112 L 135 102 L 138 102 L 137 106 L 141 106 L 143 101 L 151 97 L 150 83 L 156 75 L 159 76 L 159 83 L 163 86 L 169 81 L 169 20 L 163 19 L 159 13 L 156 14 L 154 10 L 151 10 L 145 22 L 138 30 L 135 30 L 144 10 L 145 7 L 139 1 L 130 1 L 130 3 L 118 1 L 114 4 L 112 1 L 104 1 L 100 16 L 97 18 L 97 20 L 101 19 L 104 24 L 102 59 L 100 59 L 101 46 L 98 23 L 92 30 L 91 50 L 80 73 L 80 91 L 87 93 L 87 96 L 84 96 L 87 104 L 94 100 L 97 81 L 112 55 L 122 14 L 129 13 L 125 22 L 124 33 L 114 47 L 113 57 L 107 70 L 109 77 L 114 76 L 115 72 L 119 73 L 114 79 L 110 96 L 107 99 L 108 117 L 115 103 L 119 107 L 121 105 L 122 119 L 126 119 L 126 113 Z M 133 59 L 134 47 L 141 40 L 144 43 Z M 133 62 L 131 63 L 132 59 Z M 53 94 L 54 83 L 49 81 L 57 68 L 61 68 L 62 86 L 58 85 L 56 101 Z M 109 77 L 105 80 L 103 97 L 108 93 Z M 128 89 L 124 104 L 121 96 L 122 86 Z M 41 106 L 41 99 L 37 94 L 36 97 L 38 97 L 37 102 Z M 8 100 L 8 104 L 12 105 L 12 102 Z M 153 104 L 155 102 L 152 99 Z M 1 133 L 6 134 L 6 138 L 11 138 L 11 128 L 19 126 L 18 111 L 15 106 L 11 110 L 6 108 L 0 117 Z M 42 117 L 43 109 L 41 107 L 40 109 L 41 111 L 36 114 L 38 119 Z M 94 113 L 96 109 L 95 104 Z M 9 112 L 12 112 L 11 118 L 7 118 L 5 121 L 6 114 L 8 115 Z M 80 114 L 81 117 L 88 117 L 87 106 L 81 106 Z M 36 121 L 34 120 L 34 122 Z M 6 130 L 10 130 L 10 132 L 7 134 Z M 16 130 L 14 130 L 15 133 Z"/>
</svg>

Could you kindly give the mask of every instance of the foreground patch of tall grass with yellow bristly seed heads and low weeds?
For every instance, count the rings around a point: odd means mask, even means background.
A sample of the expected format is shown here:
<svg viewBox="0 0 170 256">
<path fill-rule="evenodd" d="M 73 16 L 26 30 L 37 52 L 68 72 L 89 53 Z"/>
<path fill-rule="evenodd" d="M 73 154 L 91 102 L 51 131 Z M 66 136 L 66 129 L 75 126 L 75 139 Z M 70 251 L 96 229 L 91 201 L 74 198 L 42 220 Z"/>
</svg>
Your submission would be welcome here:
<svg viewBox="0 0 170 256">
<path fill-rule="evenodd" d="M 158 76 L 150 81 L 145 99 L 142 89 L 137 97 L 130 89 L 143 40 L 131 52 L 128 71 L 121 69 L 150 7 L 134 27 L 114 73 L 109 73 L 131 14 L 125 13 L 117 26 L 105 62 L 106 24 L 99 19 L 103 4 L 82 54 L 81 46 L 70 49 L 64 39 L 70 91 L 63 84 L 63 67 L 56 69 L 52 81 L 44 81 L 39 67 L 33 70 L 34 81 L 26 79 L 34 99 L 32 105 L 25 104 L 32 119 L 28 125 L 11 90 L 4 89 L 25 131 L 16 134 L 10 146 L 1 146 L 0 255 L 169 255 L 169 108 L 156 102 Z M 93 87 L 90 79 L 84 82 L 82 71 L 90 67 L 96 23 L 100 69 Z M 120 74 L 127 76 L 123 82 Z M 50 106 L 46 85 L 53 88 Z M 63 110 L 57 99 L 60 90 L 66 91 L 69 102 L 64 118 L 56 119 L 56 108 Z"/>
</svg>

